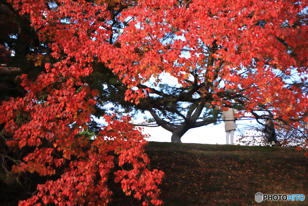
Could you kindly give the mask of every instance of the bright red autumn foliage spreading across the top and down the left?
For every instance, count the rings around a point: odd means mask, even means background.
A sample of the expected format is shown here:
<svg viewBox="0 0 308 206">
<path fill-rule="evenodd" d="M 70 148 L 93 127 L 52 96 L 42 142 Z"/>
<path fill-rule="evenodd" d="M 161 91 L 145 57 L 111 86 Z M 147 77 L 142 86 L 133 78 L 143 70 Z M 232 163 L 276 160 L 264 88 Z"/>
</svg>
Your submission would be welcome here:
<svg viewBox="0 0 308 206">
<path fill-rule="evenodd" d="M 132 165 L 115 173 L 125 194 L 145 196 L 144 205 L 162 203 L 157 184 L 164 173 L 147 169 L 145 136 L 128 116 L 122 121 L 104 116 L 109 125 L 94 140 L 76 138 L 87 129 L 96 103 L 96 91 L 80 79 L 92 73 L 94 61 L 119 75 L 128 86 L 126 100 L 136 104 L 151 92 L 135 89 L 138 84 L 151 77 L 159 82 L 160 74 L 170 73 L 185 87 L 198 83 L 198 95 L 211 94 L 216 107 L 223 107 L 229 97 L 248 112 L 262 106 L 294 126 L 298 120 L 308 122 L 303 92 L 308 67 L 306 0 L 11 3 L 30 16 L 40 40 L 58 61 L 46 63 L 46 72 L 34 82 L 23 75 L 26 96 L 1 105 L 0 123 L 13 137 L 7 144 L 33 148 L 13 170 L 54 175 L 66 165 L 59 179 L 38 185 L 38 193 L 21 206 L 106 205 L 112 194 L 108 174 L 115 162 Z M 187 81 L 194 69 L 202 78 Z M 293 73 L 304 86 L 288 86 Z"/>
</svg>

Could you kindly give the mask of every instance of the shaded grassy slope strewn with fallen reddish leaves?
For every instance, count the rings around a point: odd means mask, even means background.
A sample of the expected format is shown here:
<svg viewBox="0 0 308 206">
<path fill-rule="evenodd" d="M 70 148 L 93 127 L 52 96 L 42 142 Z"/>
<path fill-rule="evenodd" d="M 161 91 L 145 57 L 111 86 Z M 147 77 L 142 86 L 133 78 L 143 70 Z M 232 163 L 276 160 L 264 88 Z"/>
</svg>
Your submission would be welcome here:
<svg viewBox="0 0 308 206">
<path fill-rule="evenodd" d="M 151 169 L 165 172 L 165 206 L 308 205 L 308 159 L 294 147 L 149 142 Z M 120 192 L 120 191 L 119 191 Z M 304 194 L 304 201 L 263 201 L 255 194 Z M 115 195 L 111 206 L 141 205 Z"/>
</svg>

